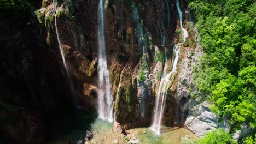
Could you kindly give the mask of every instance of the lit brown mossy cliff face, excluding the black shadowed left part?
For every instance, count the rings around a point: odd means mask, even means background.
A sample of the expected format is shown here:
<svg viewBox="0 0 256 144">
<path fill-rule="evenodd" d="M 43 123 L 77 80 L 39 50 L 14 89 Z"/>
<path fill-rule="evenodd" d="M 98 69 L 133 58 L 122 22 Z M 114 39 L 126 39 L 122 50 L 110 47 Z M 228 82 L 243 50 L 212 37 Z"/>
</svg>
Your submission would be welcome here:
<svg viewBox="0 0 256 144">
<path fill-rule="evenodd" d="M 47 40 L 55 47 L 57 41 L 51 17 L 57 14 L 62 49 L 79 105 L 96 108 L 98 1 L 59 4 L 43 1 L 42 6 L 40 12 L 45 20 L 42 25 L 50 27 Z M 173 46 L 180 39 L 175 1 L 105 1 L 104 13 L 108 69 L 117 121 L 125 125 L 125 129 L 149 125 L 164 69 L 164 49 L 166 47 L 168 72 L 171 71 Z M 193 47 L 182 49 L 188 53 Z M 172 77 L 174 82 L 168 93 L 164 116 L 167 125 L 182 125 L 186 116 L 181 105 L 187 99 L 177 94 L 180 73 L 178 69 Z M 184 81 L 181 79 L 179 81 Z M 179 113 L 184 114 L 182 118 L 177 118 Z"/>
</svg>

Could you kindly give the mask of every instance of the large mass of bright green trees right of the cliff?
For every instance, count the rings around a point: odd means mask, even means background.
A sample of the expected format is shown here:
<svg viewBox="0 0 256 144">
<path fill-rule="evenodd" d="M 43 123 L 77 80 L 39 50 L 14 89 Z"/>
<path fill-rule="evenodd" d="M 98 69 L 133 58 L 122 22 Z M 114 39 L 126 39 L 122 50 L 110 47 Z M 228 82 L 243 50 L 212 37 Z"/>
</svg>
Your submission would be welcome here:
<svg viewBox="0 0 256 144">
<path fill-rule="evenodd" d="M 189 8 L 206 52 L 197 69 L 197 87 L 213 102 L 212 110 L 228 119 L 231 131 L 241 129 L 243 123 L 255 131 L 255 2 L 194 0 L 189 2 Z"/>
</svg>

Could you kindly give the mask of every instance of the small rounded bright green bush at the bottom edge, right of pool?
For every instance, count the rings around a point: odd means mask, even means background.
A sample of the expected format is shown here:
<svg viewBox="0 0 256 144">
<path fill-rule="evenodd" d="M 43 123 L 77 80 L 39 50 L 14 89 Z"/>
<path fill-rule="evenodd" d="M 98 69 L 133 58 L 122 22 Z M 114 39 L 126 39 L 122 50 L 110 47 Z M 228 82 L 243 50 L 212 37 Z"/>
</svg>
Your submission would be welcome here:
<svg viewBox="0 0 256 144">
<path fill-rule="evenodd" d="M 205 143 L 237 143 L 231 134 L 228 134 L 224 129 L 216 129 L 205 134 L 202 139 L 199 139 L 195 142 L 196 144 L 205 144 Z"/>
</svg>

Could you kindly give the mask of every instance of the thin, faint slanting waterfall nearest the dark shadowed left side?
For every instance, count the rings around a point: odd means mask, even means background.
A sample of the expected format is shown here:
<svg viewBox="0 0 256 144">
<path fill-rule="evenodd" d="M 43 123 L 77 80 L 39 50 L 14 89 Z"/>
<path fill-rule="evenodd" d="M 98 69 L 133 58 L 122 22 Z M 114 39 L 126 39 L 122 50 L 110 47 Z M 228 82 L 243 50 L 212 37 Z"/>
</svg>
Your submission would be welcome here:
<svg viewBox="0 0 256 144">
<path fill-rule="evenodd" d="M 56 15 L 57 15 L 57 11 L 56 11 L 56 14 L 54 15 L 54 21 L 55 21 L 55 31 L 56 31 L 56 35 L 57 35 L 57 41 L 58 41 L 58 44 L 59 44 L 59 50 L 61 52 L 61 59 L 62 59 L 63 65 L 64 65 L 65 74 L 67 76 L 68 85 L 69 85 L 69 87 L 71 89 L 71 93 L 74 97 L 73 104 L 77 105 L 77 99 L 74 95 L 74 86 L 73 86 L 73 83 L 71 82 L 71 77 L 70 77 L 69 71 L 67 69 L 67 64 L 66 64 L 66 61 L 65 61 L 65 57 L 64 57 L 62 47 L 61 47 L 61 41 L 60 41 L 60 36 L 59 36 L 59 32 L 58 32 L 58 28 L 57 28 L 57 22 L 56 22 Z"/>
</svg>

